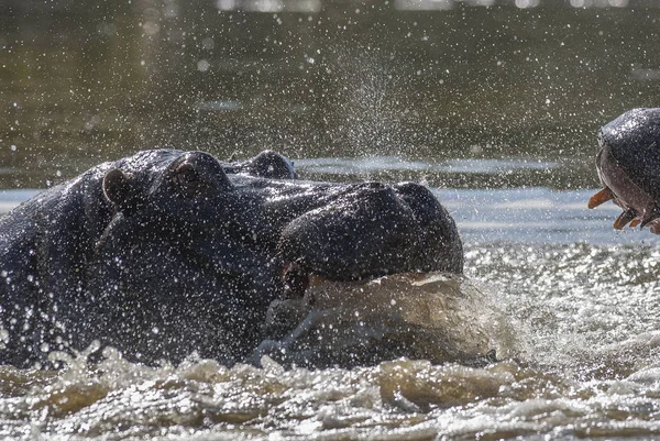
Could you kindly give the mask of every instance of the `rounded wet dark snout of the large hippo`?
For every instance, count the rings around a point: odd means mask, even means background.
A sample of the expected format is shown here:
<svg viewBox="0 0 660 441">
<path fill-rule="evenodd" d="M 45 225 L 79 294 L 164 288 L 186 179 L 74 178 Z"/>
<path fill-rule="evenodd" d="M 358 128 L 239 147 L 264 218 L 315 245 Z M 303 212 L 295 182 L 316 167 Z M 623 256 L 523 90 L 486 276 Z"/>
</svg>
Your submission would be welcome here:
<svg viewBox="0 0 660 441">
<path fill-rule="evenodd" d="M 334 280 L 463 271 L 453 220 L 427 188 L 411 183 L 351 186 L 289 222 L 278 250 L 298 271 Z"/>
</svg>

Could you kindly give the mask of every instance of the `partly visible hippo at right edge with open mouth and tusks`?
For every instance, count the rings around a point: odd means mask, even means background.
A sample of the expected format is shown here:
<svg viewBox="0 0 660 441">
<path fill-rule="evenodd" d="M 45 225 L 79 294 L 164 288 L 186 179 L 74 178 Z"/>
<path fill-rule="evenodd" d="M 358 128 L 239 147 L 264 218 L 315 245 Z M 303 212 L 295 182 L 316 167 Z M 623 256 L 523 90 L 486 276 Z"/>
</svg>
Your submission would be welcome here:
<svg viewBox="0 0 660 441">
<path fill-rule="evenodd" d="M 608 200 L 624 211 L 614 222 L 622 230 L 649 225 L 660 233 L 660 109 L 632 109 L 601 128 L 596 169 L 603 189 L 588 201 Z"/>
</svg>

